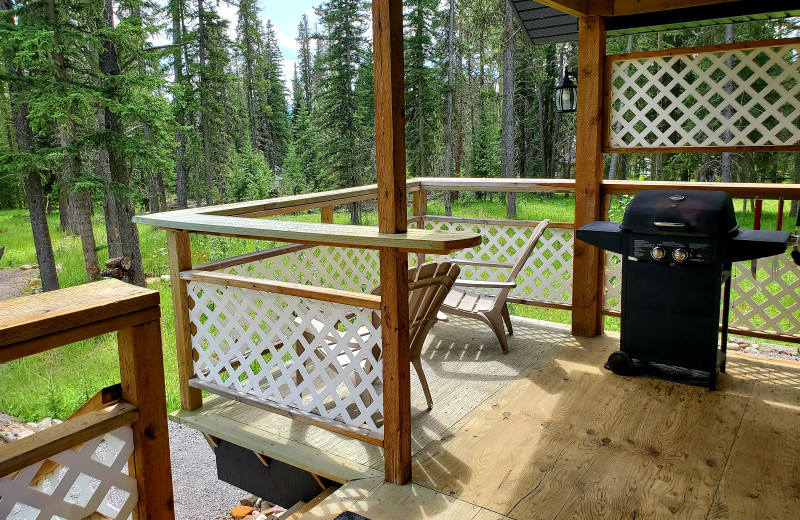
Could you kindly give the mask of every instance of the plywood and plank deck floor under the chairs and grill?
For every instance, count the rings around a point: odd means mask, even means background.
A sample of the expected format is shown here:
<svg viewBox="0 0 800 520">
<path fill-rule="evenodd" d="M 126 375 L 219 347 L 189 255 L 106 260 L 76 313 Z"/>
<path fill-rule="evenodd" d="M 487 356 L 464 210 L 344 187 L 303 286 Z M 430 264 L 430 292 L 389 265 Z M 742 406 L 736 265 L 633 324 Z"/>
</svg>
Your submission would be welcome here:
<svg viewBox="0 0 800 520">
<path fill-rule="evenodd" d="M 614 335 L 514 319 L 502 355 L 477 322 L 439 324 L 412 376 L 413 484 L 380 448 L 212 398 L 175 420 L 349 481 L 303 520 L 796 518 L 800 365 L 731 355 L 720 390 L 602 369 Z"/>
</svg>

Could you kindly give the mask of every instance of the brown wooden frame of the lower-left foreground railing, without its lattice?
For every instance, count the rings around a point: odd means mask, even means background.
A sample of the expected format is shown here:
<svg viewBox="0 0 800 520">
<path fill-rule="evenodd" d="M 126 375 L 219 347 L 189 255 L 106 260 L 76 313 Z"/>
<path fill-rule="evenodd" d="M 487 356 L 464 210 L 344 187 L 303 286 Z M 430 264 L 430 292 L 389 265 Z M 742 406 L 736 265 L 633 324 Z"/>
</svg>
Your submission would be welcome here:
<svg viewBox="0 0 800 520">
<path fill-rule="evenodd" d="M 121 380 L 62 424 L 0 446 L 0 495 L 4 477 L 41 464 L 31 484 L 38 482 L 60 467 L 51 457 L 129 424 L 133 517 L 174 518 L 160 317 L 158 292 L 117 280 L 0 302 L 0 363 L 117 331 Z"/>
</svg>

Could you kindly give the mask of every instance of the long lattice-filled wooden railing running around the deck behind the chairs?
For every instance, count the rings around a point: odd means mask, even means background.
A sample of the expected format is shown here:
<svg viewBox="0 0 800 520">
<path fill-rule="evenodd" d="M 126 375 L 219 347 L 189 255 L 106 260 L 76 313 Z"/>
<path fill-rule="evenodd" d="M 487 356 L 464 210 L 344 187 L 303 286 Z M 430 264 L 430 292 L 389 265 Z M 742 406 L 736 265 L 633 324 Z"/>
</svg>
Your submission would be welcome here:
<svg viewBox="0 0 800 520">
<path fill-rule="evenodd" d="M 666 186 L 723 189 L 734 197 L 800 199 L 800 186 L 797 185 L 607 181 L 601 186 L 606 201 L 604 214 L 607 214 L 607 201 L 612 194 L 630 194 Z M 194 410 L 202 406 L 201 390 L 207 390 L 343 435 L 384 445 L 390 450 L 382 429 L 384 421 L 389 424 L 387 415 L 409 413 L 391 401 L 392 395 L 372 393 L 369 402 L 361 403 L 369 413 L 356 418 L 345 418 L 342 410 L 332 408 L 325 399 L 314 401 L 309 398 L 309 393 L 313 393 L 310 385 L 316 383 L 311 382 L 314 375 L 308 372 L 308 367 L 319 361 L 328 363 L 341 355 L 349 341 L 345 336 L 355 329 L 346 327 L 348 330 L 340 331 L 342 338 L 332 341 L 329 334 L 322 334 L 308 323 L 330 325 L 333 320 L 341 324 L 344 323 L 342 318 L 347 316 L 348 320 L 372 327 L 370 336 L 380 337 L 383 329 L 375 327 L 368 316 L 383 316 L 385 299 L 378 300 L 369 293 L 385 275 L 386 251 L 410 254 L 412 264 L 451 254 L 461 259 L 488 255 L 493 261 L 511 262 L 518 249 L 514 246 L 518 246 L 517 242 L 524 240 L 530 228 L 538 223 L 431 215 L 428 213 L 430 191 L 574 193 L 575 184 L 572 180 L 549 179 L 421 178 L 409 180 L 407 189 L 412 194 L 412 215 L 408 222 L 413 228 L 401 234 L 380 233 L 373 227 L 333 224 L 335 206 L 377 199 L 376 186 L 136 217 L 140 223 L 167 230 L 182 407 Z M 581 203 L 581 197 L 578 197 L 576 208 Z M 310 209 L 320 210 L 323 225 L 261 218 Z M 191 233 L 274 240 L 288 245 L 192 265 Z M 573 235 L 572 222 L 551 224 L 536 253 L 516 280 L 517 288 L 510 301 L 571 310 L 573 319 L 576 313 L 583 312 L 583 307 L 573 306 L 573 259 L 576 254 Z M 584 290 L 578 295 L 585 301 L 594 298 L 598 302 L 598 313 L 614 315 L 613 307 L 601 307 L 608 301 L 604 294 L 610 294 L 613 299 L 615 290 L 613 276 L 606 276 L 612 271 L 603 264 L 601 269 L 598 269 L 596 279 L 608 278 L 608 281 L 598 283 L 598 294 L 587 295 L 586 292 L 593 289 L 582 285 Z M 464 275 L 488 276 L 489 279 L 502 276 L 496 269 L 480 265 L 466 266 Z M 382 298 L 386 298 L 383 291 Z M 290 307 L 292 312 L 285 312 Z M 266 315 L 272 316 L 272 321 L 262 319 Z M 300 323 L 304 324 L 301 326 Z M 741 334 L 788 341 L 795 341 L 798 337 L 794 332 L 776 334 L 768 330 L 734 329 Z M 276 335 L 276 330 L 283 336 Z M 353 336 L 347 337 L 354 339 Z M 327 358 L 319 358 L 318 354 L 315 354 L 316 358 L 311 356 L 316 347 L 333 343 L 338 343 L 338 350 L 329 351 Z M 354 399 L 358 392 L 366 389 L 365 381 L 377 387 L 380 386 L 377 383 L 384 380 L 381 378 L 386 377 L 385 365 L 380 376 L 377 374 L 381 370 L 376 368 L 381 366 L 385 357 L 369 359 L 366 351 L 370 349 L 362 350 L 365 357 L 359 358 L 357 363 L 350 363 L 348 367 L 337 366 L 336 369 L 342 381 L 359 381 L 345 392 Z M 278 366 L 282 359 L 286 362 Z M 400 365 L 403 364 L 395 363 L 391 370 L 401 370 L 405 375 L 398 376 L 393 372 L 392 377 L 408 376 L 407 363 Z M 265 374 L 269 370 L 284 374 L 280 384 L 268 381 Z M 288 393 L 277 391 L 281 384 L 287 385 Z M 353 404 L 355 401 L 349 402 Z M 392 455 L 387 452 L 386 456 L 388 465 Z"/>
</svg>

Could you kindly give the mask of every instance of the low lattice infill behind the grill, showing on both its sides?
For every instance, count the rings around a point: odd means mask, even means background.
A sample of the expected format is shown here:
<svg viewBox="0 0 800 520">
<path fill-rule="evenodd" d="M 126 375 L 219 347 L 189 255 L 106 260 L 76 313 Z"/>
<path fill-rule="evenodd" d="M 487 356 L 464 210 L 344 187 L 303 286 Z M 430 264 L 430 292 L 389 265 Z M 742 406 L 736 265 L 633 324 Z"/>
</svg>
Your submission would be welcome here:
<svg viewBox="0 0 800 520">
<path fill-rule="evenodd" d="M 750 262 L 733 264 L 731 328 L 800 334 L 800 269 L 788 254 L 758 260 L 753 278 Z M 622 263 L 606 253 L 605 309 L 619 310 Z"/>
</svg>

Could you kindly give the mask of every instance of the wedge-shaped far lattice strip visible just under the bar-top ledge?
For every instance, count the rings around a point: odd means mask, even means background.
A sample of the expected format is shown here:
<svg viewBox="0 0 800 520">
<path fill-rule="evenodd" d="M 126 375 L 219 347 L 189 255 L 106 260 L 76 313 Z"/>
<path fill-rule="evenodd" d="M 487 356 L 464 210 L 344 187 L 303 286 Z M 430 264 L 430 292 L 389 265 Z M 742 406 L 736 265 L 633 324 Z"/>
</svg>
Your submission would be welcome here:
<svg viewBox="0 0 800 520">
<path fill-rule="evenodd" d="M 368 293 L 380 284 L 380 257 L 372 249 L 311 246 L 223 272 Z"/>
</svg>

